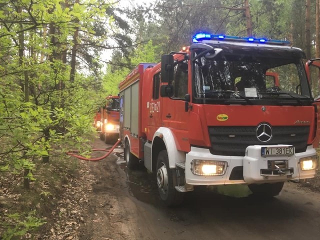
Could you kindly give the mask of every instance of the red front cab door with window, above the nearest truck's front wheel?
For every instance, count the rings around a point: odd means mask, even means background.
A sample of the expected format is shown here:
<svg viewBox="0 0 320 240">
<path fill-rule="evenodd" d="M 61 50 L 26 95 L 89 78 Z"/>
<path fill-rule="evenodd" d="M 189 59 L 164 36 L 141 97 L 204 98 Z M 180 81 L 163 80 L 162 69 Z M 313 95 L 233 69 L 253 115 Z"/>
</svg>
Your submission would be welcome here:
<svg viewBox="0 0 320 240">
<path fill-rule="evenodd" d="M 178 62 L 173 71 L 173 95 L 162 98 L 162 126 L 168 127 L 176 137 L 179 150 L 188 148 L 188 111 L 185 111 L 184 95 L 188 90 L 189 78 L 188 60 Z"/>
</svg>

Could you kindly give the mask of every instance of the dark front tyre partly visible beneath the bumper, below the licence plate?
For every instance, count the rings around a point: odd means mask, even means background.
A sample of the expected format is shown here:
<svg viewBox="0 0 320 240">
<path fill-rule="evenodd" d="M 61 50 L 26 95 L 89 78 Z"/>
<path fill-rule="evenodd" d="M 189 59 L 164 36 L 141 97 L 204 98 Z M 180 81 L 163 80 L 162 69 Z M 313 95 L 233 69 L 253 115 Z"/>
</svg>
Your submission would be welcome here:
<svg viewBox="0 0 320 240">
<path fill-rule="evenodd" d="M 276 196 L 282 190 L 284 182 L 248 184 L 249 189 L 254 196 L 272 197 Z"/>
</svg>

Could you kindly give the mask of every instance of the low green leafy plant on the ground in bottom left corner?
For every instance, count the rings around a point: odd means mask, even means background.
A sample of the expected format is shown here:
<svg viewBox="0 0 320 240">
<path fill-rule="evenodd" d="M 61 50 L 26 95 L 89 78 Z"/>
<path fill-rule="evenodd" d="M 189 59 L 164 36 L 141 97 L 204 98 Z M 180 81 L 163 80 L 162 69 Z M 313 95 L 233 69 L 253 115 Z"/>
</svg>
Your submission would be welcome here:
<svg viewBox="0 0 320 240">
<path fill-rule="evenodd" d="M 12 213 L 5 215 L 5 221 L 0 223 L 6 227 L 6 231 L 2 235 L 3 240 L 10 240 L 12 237 L 24 236 L 25 233 L 36 230 L 45 223 L 43 218 L 36 216 L 36 211 L 28 213 Z"/>
</svg>

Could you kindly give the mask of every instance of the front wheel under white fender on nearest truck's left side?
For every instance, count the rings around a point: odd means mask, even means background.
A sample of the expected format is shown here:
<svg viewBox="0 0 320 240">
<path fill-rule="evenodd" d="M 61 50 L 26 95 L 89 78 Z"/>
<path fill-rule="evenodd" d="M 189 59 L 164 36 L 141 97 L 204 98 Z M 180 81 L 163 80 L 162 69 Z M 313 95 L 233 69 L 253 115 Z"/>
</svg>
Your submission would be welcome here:
<svg viewBox="0 0 320 240">
<path fill-rule="evenodd" d="M 168 154 L 166 150 L 159 152 L 156 162 L 156 182 L 160 198 L 167 206 L 178 205 L 183 200 L 183 192 L 177 191 L 174 186 L 176 182 L 175 169 L 169 168 Z"/>
</svg>

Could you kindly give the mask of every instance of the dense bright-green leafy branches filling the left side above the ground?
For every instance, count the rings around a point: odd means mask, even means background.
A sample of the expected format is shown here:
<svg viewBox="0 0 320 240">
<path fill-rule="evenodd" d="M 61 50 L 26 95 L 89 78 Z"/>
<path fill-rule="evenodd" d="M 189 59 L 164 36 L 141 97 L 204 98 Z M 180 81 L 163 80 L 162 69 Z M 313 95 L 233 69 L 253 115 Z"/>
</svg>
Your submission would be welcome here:
<svg viewBox="0 0 320 240">
<path fill-rule="evenodd" d="M 106 40 L 105 34 L 94 35 L 94 26 L 106 18 L 112 24 L 112 16 L 105 15 L 107 3 L 95 0 L 68 6 L 64 0 L 0 3 L 0 163 L 5 164 L 3 169 L 22 174 L 24 169 L 35 170 L 34 160 L 59 156 L 64 147 L 86 142 L 86 135 L 93 132 L 95 89 L 101 83 L 96 79 L 101 73 L 96 71 L 99 63 L 87 56 Z M 76 73 L 70 82 L 63 54 L 79 42 L 72 40 L 77 27 L 86 34 L 76 54 L 88 60 L 89 71 Z M 31 179 L 31 172 L 26 177 Z"/>
</svg>

